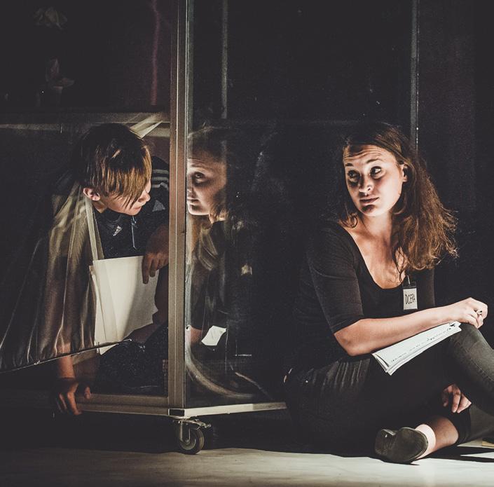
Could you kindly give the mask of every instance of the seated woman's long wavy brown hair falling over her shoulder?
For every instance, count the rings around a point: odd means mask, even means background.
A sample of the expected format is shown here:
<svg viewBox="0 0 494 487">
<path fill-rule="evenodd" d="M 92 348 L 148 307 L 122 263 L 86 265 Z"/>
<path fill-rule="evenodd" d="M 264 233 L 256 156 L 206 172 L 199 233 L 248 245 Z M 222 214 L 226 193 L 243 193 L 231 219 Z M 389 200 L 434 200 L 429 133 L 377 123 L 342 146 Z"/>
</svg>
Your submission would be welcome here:
<svg viewBox="0 0 494 487">
<path fill-rule="evenodd" d="M 424 161 L 409 139 L 393 125 L 374 122 L 359 125 L 343 140 L 340 159 L 358 153 L 362 146 L 377 146 L 404 165 L 407 180 L 393 211 L 392 255 L 400 275 L 433 268 L 447 254 L 457 255 L 456 219 L 446 210 L 430 180 Z M 336 217 L 348 227 L 357 225 L 357 208 L 346 187 L 343 163 L 337 182 Z M 404 257 L 404 258 L 403 258 Z"/>
</svg>

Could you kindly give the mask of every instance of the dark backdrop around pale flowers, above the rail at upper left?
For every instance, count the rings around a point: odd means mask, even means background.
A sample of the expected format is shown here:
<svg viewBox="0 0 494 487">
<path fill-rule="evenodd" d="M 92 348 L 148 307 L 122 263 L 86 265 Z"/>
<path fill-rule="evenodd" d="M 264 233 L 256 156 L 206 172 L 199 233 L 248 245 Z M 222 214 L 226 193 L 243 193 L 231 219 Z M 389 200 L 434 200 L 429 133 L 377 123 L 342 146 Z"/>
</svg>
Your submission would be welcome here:
<svg viewBox="0 0 494 487">
<path fill-rule="evenodd" d="M 171 1 L 20 0 L 0 16 L 0 110 L 36 105 L 170 107 Z M 59 15 L 39 8 L 53 6 Z M 55 101 L 46 62 L 74 83 Z M 52 80 L 53 81 L 53 80 Z M 43 92 L 42 92 L 43 91 Z M 42 92 L 42 93 L 41 93 Z"/>
</svg>

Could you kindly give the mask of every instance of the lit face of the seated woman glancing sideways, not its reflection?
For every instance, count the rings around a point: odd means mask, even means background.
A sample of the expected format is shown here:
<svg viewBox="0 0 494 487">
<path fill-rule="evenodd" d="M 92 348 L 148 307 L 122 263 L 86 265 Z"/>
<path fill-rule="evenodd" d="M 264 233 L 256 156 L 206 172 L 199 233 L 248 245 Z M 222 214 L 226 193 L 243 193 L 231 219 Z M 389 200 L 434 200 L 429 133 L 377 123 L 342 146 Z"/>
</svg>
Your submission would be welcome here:
<svg viewBox="0 0 494 487">
<path fill-rule="evenodd" d="M 369 217 L 392 212 L 406 181 L 404 165 L 378 146 L 362 146 L 358 153 L 343 153 L 345 180 L 357 210 Z"/>
</svg>

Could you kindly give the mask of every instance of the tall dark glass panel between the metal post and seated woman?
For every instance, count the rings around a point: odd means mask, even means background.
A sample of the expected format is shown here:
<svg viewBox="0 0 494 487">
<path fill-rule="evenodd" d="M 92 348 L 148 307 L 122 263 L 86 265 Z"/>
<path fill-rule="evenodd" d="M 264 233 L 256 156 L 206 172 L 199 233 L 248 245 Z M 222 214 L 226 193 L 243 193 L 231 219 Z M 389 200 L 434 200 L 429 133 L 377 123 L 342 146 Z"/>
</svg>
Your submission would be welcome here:
<svg viewBox="0 0 494 487">
<path fill-rule="evenodd" d="M 193 3 L 188 407 L 280 399 L 303 229 L 324 210 L 331 141 L 366 117 L 409 130 L 411 2 L 327 11 Z"/>
</svg>

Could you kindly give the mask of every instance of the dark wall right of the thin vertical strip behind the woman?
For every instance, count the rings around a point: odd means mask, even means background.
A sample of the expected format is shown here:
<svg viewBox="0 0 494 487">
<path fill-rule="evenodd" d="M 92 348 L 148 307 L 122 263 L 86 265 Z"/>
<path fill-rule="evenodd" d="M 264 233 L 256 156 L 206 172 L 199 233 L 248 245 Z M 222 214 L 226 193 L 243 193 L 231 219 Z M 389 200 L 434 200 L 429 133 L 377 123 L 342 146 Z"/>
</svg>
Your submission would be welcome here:
<svg viewBox="0 0 494 487">
<path fill-rule="evenodd" d="M 494 304 L 494 32 L 489 3 L 420 1 L 419 147 L 458 217 L 460 256 L 437 270 L 439 303 Z M 484 333 L 492 338 L 493 316 Z"/>
</svg>

